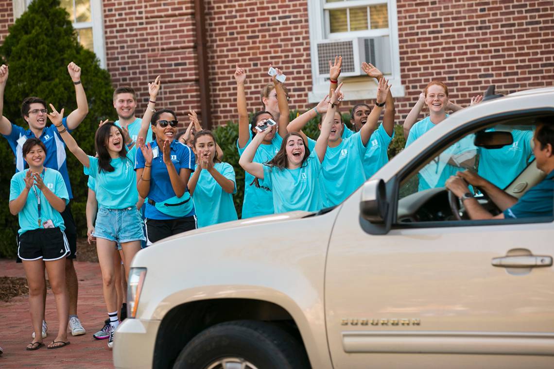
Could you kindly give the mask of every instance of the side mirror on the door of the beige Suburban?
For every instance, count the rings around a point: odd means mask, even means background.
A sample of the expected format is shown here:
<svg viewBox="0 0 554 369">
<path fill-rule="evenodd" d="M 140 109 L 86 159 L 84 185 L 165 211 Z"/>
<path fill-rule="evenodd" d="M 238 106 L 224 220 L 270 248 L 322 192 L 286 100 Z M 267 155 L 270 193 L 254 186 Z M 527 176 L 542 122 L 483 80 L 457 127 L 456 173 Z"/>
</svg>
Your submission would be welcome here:
<svg viewBox="0 0 554 369">
<path fill-rule="evenodd" d="M 387 216 L 386 187 L 382 179 L 372 179 L 362 186 L 360 212 L 363 219 L 372 223 L 383 223 Z"/>
</svg>

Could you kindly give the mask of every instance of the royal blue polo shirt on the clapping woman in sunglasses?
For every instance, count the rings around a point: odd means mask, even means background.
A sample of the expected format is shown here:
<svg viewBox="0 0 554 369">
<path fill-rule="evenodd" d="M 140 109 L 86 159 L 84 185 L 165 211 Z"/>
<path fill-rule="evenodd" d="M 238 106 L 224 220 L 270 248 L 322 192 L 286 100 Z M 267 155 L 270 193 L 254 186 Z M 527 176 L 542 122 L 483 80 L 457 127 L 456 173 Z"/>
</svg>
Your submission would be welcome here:
<svg viewBox="0 0 554 369">
<path fill-rule="evenodd" d="M 167 199 L 176 196 L 171 186 L 170 174 L 167 172 L 166 164 L 163 163 L 162 148 L 158 147 L 157 141 L 150 142 L 152 147 L 153 159 L 152 168 L 150 171 L 150 191 L 148 192 L 148 199 L 152 199 L 155 202 L 165 201 Z M 195 157 L 191 148 L 178 141 L 173 140 L 170 145 L 171 150 L 171 162 L 177 170 L 177 174 L 181 169 L 190 169 L 194 171 Z M 141 150 L 137 150 L 135 160 L 135 170 L 144 168 L 145 160 Z M 188 192 L 188 189 L 186 190 Z M 182 217 L 194 215 L 194 207 L 188 214 Z M 147 219 L 167 220 L 167 219 L 179 219 L 181 217 L 173 217 L 163 214 L 160 210 L 156 209 L 156 206 L 146 203 L 145 217 Z"/>
</svg>

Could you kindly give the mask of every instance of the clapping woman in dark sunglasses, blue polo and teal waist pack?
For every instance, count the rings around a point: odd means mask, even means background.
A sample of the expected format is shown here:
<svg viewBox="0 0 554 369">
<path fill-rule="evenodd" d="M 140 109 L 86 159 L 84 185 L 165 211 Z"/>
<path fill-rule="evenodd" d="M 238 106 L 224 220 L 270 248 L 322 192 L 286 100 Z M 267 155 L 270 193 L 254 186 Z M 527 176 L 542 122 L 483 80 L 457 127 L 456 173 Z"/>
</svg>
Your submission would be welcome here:
<svg viewBox="0 0 554 369">
<path fill-rule="evenodd" d="M 145 117 L 152 112 L 149 104 Z M 155 139 L 148 144 L 138 139 L 140 150 L 135 164 L 139 194 L 148 198 L 147 245 L 196 228 L 196 213 L 187 187 L 194 171 L 194 153 L 178 141 L 175 112 L 162 109 L 151 117 Z"/>
</svg>

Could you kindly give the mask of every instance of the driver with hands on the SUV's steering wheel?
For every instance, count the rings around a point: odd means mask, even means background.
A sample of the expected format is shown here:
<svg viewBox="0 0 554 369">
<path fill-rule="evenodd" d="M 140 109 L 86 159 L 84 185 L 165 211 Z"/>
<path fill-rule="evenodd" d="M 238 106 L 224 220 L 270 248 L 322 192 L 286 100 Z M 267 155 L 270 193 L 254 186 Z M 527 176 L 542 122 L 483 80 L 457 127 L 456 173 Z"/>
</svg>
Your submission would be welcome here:
<svg viewBox="0 0 554 369">
<path fill-rule="evenodd" d="M 529 189 L 521 199 L 505 193 L 481 176 L 466 170 L 451 176 L 446 187 L 464 202 L 471 219 L 515 219 L 529 217 L 552 217 L 554 208 L 554 122 L 542 121 L 533 137 L 533 154 L 537 168 L 546 173 L 546 178 Z M 473 198 L 468 183 L 478 186 L 494 201 L 502 213 L 493 216 Z"/>
</svg>

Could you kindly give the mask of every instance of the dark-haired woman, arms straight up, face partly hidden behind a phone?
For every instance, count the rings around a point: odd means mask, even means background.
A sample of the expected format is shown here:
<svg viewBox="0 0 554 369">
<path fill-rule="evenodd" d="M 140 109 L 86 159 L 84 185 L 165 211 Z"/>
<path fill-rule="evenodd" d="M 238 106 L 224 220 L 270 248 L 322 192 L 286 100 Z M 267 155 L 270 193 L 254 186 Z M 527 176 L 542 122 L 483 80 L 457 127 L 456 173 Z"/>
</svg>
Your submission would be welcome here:
<svg viewBox="0 0 554 369">
<path fill-rule="evenodd" d="M 282 74 L 278 70 L 278 74 Z M 257 126 L 264 126 L 268 119 L 273 119 L 274 116 L 270 112 L 261 111 L 253 115 L 248 122 L 248 110 L 246 104 L 246 95 L 244 92 L 244 81 L 246 80 L 246 71 L 237 65 L 235 70 L 235 81 L 237 81 L 237 110 L 239 113 L 239 138 L 237 140 L 237 149 L 239 155 L 244 153 L 248 144 L 258 132 Z M 254 154 L 254 163 L 267 163 L 273 159 L 276 153 L 281 148 L 283 137 L 288 133 L 286 126 L 289 124 L 289 103 L 286 99 L 286 93 L 281 82 L 273 76 L 273 85 L 275 86 L 276 99 L 279 105 L 279 121 L 273 127 L 269 127 L 269 132 L 264 132 L 264 139 L 260 143 Z M 274 213 L 273 195 L 267 189 L 260 188 L 254 185 L 255 177 L 248 173 L 244 174 L 244 200 L 242 209 L 242 219 L 268 215 Z"/>
</svg>

